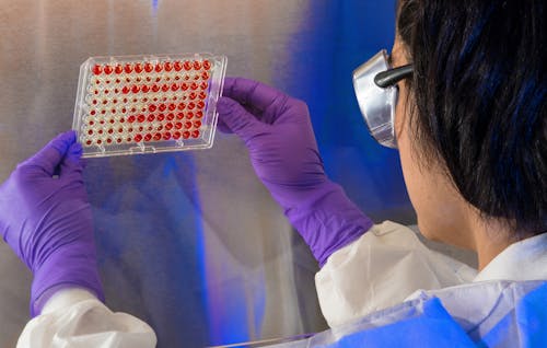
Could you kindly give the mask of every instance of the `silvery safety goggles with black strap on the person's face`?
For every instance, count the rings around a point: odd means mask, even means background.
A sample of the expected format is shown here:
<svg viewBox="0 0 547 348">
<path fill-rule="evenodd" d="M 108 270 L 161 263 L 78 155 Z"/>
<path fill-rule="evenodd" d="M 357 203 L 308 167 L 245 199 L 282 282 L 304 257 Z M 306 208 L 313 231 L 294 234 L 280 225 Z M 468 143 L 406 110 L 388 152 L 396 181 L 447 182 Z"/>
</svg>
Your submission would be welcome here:
<svg viewBox="0 0 547 348">
<path fill-rule="evenodd" d="M 392 149 L 395 139 L 397 82 L 412 74 L 412 66 L 393 68 L 385 49 L 353 71 L 353 89 L 369 131 L 377 142 Z"/>
</svg>

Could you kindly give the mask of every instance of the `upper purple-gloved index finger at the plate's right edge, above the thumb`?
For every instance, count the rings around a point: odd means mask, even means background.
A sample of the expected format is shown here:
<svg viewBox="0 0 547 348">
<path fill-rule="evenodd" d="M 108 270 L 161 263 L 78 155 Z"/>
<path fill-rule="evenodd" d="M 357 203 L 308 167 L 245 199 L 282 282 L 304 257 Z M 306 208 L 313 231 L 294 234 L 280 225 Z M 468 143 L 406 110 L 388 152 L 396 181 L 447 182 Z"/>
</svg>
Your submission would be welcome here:
<svg viewBox="0 0 547 348">
<path fill-rule="evenodd" d="M 287 98 L 283 92 L 272 86 L 243 78 L 224 79 L 222 95 L 260 112 L 266 111 L 276 101 Z"/>
</svg>

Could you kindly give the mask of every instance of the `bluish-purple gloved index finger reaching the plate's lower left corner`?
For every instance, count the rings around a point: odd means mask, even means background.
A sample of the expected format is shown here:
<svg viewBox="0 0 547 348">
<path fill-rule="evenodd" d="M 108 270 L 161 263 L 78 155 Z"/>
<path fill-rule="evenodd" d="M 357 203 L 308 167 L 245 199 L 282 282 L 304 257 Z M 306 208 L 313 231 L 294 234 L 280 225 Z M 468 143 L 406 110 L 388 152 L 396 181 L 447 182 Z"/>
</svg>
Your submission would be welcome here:
<svg viewBox="0 0 547 348">
<path fill-rule="evenodd" d="M 53 176 L 70 147 L 75 142 L 73 130 L 58 135 L 49 141 L 42 150 L 34 154 L 21 165 L 31 165 L 43 170 L 47 175 Z"/>
</svg>

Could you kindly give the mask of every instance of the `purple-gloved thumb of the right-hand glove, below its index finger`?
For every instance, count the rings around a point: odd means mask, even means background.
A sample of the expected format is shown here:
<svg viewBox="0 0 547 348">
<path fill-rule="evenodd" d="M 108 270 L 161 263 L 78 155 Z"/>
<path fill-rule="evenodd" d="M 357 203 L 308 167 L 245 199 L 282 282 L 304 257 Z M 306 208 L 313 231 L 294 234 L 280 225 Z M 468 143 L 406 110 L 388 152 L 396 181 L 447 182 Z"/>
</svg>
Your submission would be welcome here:
<svg viewBox="0 0 547 348">
<path fill-rule="evenodd" d="M 222 121 L 244 141 L 263 132 L 266 126 L 253 114 L 249 114 L 240 103 L 230 97 L 221 97 L 217 103 L 217 111 L 219 112 L 219 121 Z"/>
</svg>

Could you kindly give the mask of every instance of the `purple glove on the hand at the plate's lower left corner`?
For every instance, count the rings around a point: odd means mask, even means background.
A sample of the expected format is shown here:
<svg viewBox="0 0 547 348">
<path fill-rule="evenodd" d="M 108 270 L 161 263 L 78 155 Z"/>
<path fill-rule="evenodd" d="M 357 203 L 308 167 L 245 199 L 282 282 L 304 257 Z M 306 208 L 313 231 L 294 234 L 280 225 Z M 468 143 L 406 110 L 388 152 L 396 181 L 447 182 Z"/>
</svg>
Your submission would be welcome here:
<svg viewBox="0 0 547 348">
<path fill-rule="evenodd" d="M 0 186 L 0 232 L 34 274 L 32 316 L 66 287 L 104 301 L 81 154 L 75 134 L 61 134 Z"/>
</svg>

